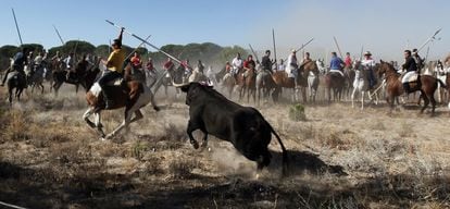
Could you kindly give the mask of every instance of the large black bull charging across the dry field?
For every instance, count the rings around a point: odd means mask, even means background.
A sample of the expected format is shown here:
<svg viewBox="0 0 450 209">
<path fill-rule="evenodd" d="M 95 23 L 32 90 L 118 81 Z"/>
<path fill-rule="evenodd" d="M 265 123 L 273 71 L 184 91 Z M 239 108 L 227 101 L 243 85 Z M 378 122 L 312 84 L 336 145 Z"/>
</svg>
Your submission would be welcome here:
<svg viewBox="0 0 450 209">
<path fill-rule="evenodd" d="M 187 93 L 186 104 L 189 106 L 187 134 L 196 149 L 199 145 L 192 132 L 200 130 L 204 134 L 202 147 L 207 146 L 208 134 L 211 134 L 230 142 L 246 158 L 257 161 L 258 170 L 262 170 L 271 162 L 272 155 L 267 146 L 273 133 L 283 149 L 283 173 L 286 174 L 286 148 L 278 134 L 257 109 L 235 103 L 199 83 L 184 85 L 182 90 Z"/>
</svg>

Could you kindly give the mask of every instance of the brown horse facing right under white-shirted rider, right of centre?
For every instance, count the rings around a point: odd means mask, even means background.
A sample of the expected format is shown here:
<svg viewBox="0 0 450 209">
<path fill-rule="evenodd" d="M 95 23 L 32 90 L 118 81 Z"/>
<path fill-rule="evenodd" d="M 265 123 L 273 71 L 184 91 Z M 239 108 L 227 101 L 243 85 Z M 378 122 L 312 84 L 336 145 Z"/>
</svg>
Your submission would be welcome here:
<svg viewBox="0 0 450 209">
<path fill-rule="evenodd" d="M 284 71 L 276 71 L 272 74 L 272 78 L 277 85 L 274 94 L 279 93 L 280 88 L 290 88 L 293 90 L 292 100 L 296 101 L 298 93 L 301 91 L 303 102 L 307 102 L 307 88 L 308 88 L 308 76 L 310 72 L 318 75 L 318 67 L 314 61 L 307 62 L 297 70 L 297 81 L 293 77 L 289 77 Z M 296 84 L 297 83 L 297 84 Z"/>
</svg>

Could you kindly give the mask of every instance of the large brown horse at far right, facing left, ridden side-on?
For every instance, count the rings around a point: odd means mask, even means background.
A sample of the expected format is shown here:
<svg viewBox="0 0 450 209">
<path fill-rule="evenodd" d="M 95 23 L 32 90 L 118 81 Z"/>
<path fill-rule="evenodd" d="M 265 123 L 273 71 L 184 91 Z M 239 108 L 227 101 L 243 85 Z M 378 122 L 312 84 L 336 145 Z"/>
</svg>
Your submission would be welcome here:
<svg viewBox="0 0 450 209">
<path fill-rule="evenodd" d="M 393 109 L 393 101 L 396 97 L 404 93 L 403 85 L 400 81 L 400 74 L 397 73 L 393 65 L 380 61 L 378 75 L 385 74 L 386 77 L 386 101 L 390 104 L 390 110 Z M 436 100 L 435 91 L 440 85 L 446 86 L 442 82 L 433 77 L 430 75 L 420 75 L 417 82 L 410 83 L 411 89 L 408 93 L 421 91 L 422 98 L 424 99 L 424 107 L 421 109 L 421 113 L 428 107 L 428 103 L 432 102 L 432 115 L 435 113 Z"/>
</svg>

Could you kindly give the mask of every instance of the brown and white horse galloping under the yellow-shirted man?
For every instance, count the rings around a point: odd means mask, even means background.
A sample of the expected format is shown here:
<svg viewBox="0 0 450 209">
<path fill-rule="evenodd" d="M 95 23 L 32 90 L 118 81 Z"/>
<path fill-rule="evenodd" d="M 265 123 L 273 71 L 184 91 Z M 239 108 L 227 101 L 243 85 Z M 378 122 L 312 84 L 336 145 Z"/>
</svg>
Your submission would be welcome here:
<svg viewBox="0 0 450 209">
<path fill-rule="evenodd" d="M 129 70 L 129 67 L 127 67 L 127 70 Z M 126 72 L 125 75 L 129 75 L 129 72 Z M 108 139 L 116 135 L 124 127 L 128 132 L 130 123 L 143 118 L 140 109 L 149 102 L 151 102 L 155 111 L 160 110 L 154 102 L 154 96 L 151 89 L 141 82 L 130 79 L 129 76 L 125 76 L 125 81 L 123 81 L 121 85 L 110 85 L 108 88 L 111 88 L 111 93 L 113 93 L 111 96 L 115 104 L 111 110 L 125 107 L 124 121 L 122 124 L 110 134 L 104 134 L 103 125 L 100 121 L 100 112 L 105 110 L 105 103 L 101 94 L 101 87 L 98 83 L 95 83 L 86 94 L 89 109 L 83 115 L 83 119 L 88 125 L 99 132 L 102 139 Z M 135 113 L 135 116 L 132 119 L 133 113 Z M 95 123 L 89 120 L 89 116 L 92 114 L 95 115 Z"/>
</svg>

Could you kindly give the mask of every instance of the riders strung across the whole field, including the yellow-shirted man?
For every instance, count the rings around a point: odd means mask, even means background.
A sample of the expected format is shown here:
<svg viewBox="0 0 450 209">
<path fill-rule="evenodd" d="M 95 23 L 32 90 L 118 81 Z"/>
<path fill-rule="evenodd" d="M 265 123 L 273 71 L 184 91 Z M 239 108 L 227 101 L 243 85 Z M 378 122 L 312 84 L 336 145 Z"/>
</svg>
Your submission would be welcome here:
<svg viewBox="0 0 450 209">
<path fill-rule="evenodd" d="M 99 66 L 100 63 L 105 65 L 105 71 L 103 72 L 102 76 L 99 76 L 98 83 L 103 88 L 108 82 L 111 82 L 114 78 L 123 76 L 123 70 L 126 65 L 132 66 L 132 72 L 137 73 L 141 72 L 143 75 L 148 76 L 155 76 L 158 74 L 157 69 L 154 67 L 153 60 L 149 58 L 146 62 L 143 62 L 140 58 L 140 54 L 137 51 L 133 52 L 133 56 L 126 57 L 125 51 L 122 49 L 122 34 L 121 30 L 118 38 L 114 39 L 112 44 L 113 51 L 109 56 L 108 60 L 102 60 L 100 57 L 92 56 L 92 54 L 84 54 L 82 59 L 76 61 L 74 52 L 68 53 L 66 57 L 63 57 L 59 51 L 57 51 L 55 56 L 49 58 L 47 52 L 41 51 L 38 52 L 36 56 L 33 51 L 28 51 L 28 49 L 23 48 L 20 52 L 17 52 L 11 59 L 11 67 L 3 75 L 3 79 L 1 86 L 4 85 L 8 74 L 10 72 L 18 72 L 20 75 L 28 78 L 33 77 L 34 74 L 39 73 L 39 76 L 46 78 L 51 77 L 54 71 L 66 71 L 66 81 L 75 81 L 82 79 L 83 75 L 86 73 L 86 70 L 93 69 L 95 66 Z M 312 60 L 309 52 L 303 52 L 303 58 L 301 61 L 297 59 L 296 50 L 291 50 L 290 54 L 287 60 L 274 60 L 271 58 L 271 51 L 266 50 L 265 54 L 262 57 L 261 62 L 254 60 L 252 54 L 249 54 L 246 59 L 241 58 L 240 53 L 237 53 L 236 57 L 225 63 L 225 71 L 226 74 L 230 75 L 235 79 L 237 79 L 237 75 L 242 73 L 242 76 L 247 76 L 249 71 L 265 71 L 270 74 L 274 72 L 284 71 L 286 72 L 287 76 L 293 81 L 297 81 L 296 77 L 298 76 L 298 70 L 301 69 L 305 63 L 315 62 Z M 359 70 L 366 71 L 364 75 L 366 75 L 368 81 L 368 88 L 373 89 L 377 84 L 383 81 L 377 81 L 377 76 L 374 73 L 374 69 L 376 65 L 375 60 L 372 58 L 372 53 L 370 51 L 364 52 L 362 59 L 352 59 L 350 53 L 347 52 L 343 60 L 337 56 L 336 52 L 332 52 L 332 58 L 329 64 L 327 66 L 324 65 L 323 60 L 317 60 L 317 65 L 321 65 L 320 73 L 334 73 L 336 75 L 340 75 L 345 77 L 345 70 L 354 70 L 358 65 Z M 59 63 L 61 67 L 57 67 L 55 63 Z M 358 63 L 358 64 L 355 64 Z M 411 82 L 411 77 L 417 75 L 421 70 L 425 69 L 425 60 L 418 56 L 417 49 L 404 50 L 404 63 L 401 66 L 398 66 L 397 62 L 391 62 L 391 64 L 402 74 L 401 82 L 403 84 L 403 89 L 405 95 L 409 93 L 409 82 Z M 436 67 L 438 69 L 438 73 L 446 74 L 447 71 L 443 66 L 450 65 L 450 56 L 447 57 L 443 61 L 437 61 Z M 430 66 L 427 66 L 428 69 Z M 173 59 L 167 58 L 165 62 L 162 63 L 162 69 L 166 73 L 167 76 L 171 76 L 175 69 L 175 62 Z M 204 72 L 204 64 L 201 60 L 198 60 L 196 66 L 192 69 L 189 60 L 185 60 L 179 62 L 178 69 L 184 70 L 184 76 L 188 77 L 192 74 L 193 71 L 207 75 L 209 79 L 216 79 L 215 76 L 212 76 L 214 73 L 212 72 L 212 67 L 210 66 L 208 72 Z M 225 75 L 226 75 L 225 74 Z M 378 78 L 379 79 L 379 78 Z M 349 81 L 350 83 L 352 81 Z M 29 83 L 29 81 L 28 81 Z M 213 83 L 216 83 L 213 82 Z M 109 95 L 107 90 L 103 90 L 103 96 L 108 106 L 111 104 L 109 102 Z"/>
</svg>

